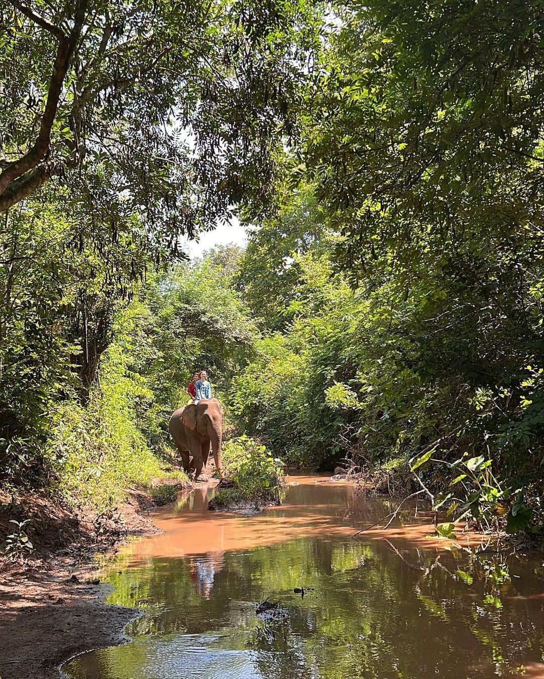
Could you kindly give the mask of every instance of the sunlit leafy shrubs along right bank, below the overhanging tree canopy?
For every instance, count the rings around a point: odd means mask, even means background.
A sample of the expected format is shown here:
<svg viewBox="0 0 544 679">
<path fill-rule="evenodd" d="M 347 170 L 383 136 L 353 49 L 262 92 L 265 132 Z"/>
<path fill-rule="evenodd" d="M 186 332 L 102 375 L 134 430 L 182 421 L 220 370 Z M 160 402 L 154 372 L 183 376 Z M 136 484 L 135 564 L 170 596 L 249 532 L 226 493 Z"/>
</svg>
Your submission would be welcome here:
<svg viewBox="0 0 544 679">
<path fill-rule="evenodd" d="M 414 482 L 420 488 L 408 462 L 428 454 L 417 473 L 437 509 L 450 507 L 452 519 L 472 517 L 486 530 L 537 530 L 540 292 L 526 291 L 522 317 L 520 293 L 500 260 L 452 259 L 454 275 L 437 271 L 409 286 L 385 267 L 365 291 L 350 289 L 324 257 L 295 261 L 291 323 L 259 339 L 255 358 L 232 382 L 239 429 L 298 464 L 323 467 L 347 456 L 378 481 L 394 472 L 401 492 Z M 466 466 L 480 458 L 475 469 Z M 465 476 L 456 480 L 459 464 Z"/>
</svg>

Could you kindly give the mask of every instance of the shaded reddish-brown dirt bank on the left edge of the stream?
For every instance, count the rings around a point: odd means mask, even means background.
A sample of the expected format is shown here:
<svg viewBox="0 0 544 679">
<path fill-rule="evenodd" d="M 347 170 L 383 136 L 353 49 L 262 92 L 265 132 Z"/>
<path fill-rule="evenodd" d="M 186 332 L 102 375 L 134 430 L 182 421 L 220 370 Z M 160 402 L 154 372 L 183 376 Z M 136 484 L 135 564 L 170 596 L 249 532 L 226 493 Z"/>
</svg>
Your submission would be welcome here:
<svg viewBox="0 0 544 679">
<path fill-rule="evenodd" d="M 12 499 L 0 497 L 0 542 L 16 530 L 10 518 L 29 518 L 24 530 L 35 549 L 24 566 L 0 560 L 0 679 L 58 678 L 69 657 L 123 642 L 125 625 L 139 616 L 105 604 L 97 555 L 115 553 L 128 536 L 158 532 L 149 515 L 155 505 L 142 490 L 102 514 L 37 494 Z"/>
</svg>

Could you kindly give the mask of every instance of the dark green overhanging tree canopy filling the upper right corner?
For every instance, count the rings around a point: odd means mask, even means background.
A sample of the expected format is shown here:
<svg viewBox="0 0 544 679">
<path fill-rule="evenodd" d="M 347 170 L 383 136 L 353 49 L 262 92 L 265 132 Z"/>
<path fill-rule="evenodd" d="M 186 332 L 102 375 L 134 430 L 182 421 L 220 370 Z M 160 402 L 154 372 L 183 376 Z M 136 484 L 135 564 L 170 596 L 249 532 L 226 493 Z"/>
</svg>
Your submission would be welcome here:
<svg viewBox="0 0 544 679">
<path fill-rule="evenodd" d="M 543 3 L 340 5 L 302 153 L 340 261 L 361 278 L 388 249 L 412 271 L 498 239 L 540 252 Z"/>
</svg>

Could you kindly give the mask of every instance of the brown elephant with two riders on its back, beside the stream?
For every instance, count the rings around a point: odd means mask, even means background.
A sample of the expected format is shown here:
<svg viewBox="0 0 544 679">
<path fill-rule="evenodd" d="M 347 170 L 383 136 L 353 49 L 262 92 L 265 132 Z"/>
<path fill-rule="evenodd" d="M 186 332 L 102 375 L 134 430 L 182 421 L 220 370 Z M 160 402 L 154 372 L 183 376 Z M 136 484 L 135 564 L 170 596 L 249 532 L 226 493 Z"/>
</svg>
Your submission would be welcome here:
<svg viewBox="0 0 544 679">
<path fill-rule="evenodd" d="M 215 467 L 219 478 L 223 478 L 223 409 L 217 399 L 200 399 L 196 404 L 190 403 L 178 408 L 168 420 L 168 429 L 177 445 L 186 473 L 191 469 L 190 453 L 195 467 L 195 481 L 198 479 L 202 467 L 206 466 L 211 443 Z"/>
</svg>

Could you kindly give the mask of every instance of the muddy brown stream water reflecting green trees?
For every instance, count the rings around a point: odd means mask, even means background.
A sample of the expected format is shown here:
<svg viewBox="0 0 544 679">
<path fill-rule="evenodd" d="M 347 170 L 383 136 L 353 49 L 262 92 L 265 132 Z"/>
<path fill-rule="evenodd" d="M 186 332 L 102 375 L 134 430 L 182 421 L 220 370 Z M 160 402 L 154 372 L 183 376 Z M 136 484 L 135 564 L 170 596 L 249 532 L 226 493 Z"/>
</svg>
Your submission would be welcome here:
<svg viewBox="0 0 544 679">
<path fill-rule="evenodd" d="M 543 555 L 429 538 L 415 504 L 354 538 L 396 504 L 289 481 L 283 506 L 257 517 L 208 512 L 214 488 L 158 513 L 164 532 L 107 572 L 109 602 L 144 610 L 132 642 L 85 653 L 64 676 L 544 678 Z M 256 613 L 264 600 L 277 603 L 268 619 Z"/>
</svg>

